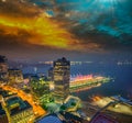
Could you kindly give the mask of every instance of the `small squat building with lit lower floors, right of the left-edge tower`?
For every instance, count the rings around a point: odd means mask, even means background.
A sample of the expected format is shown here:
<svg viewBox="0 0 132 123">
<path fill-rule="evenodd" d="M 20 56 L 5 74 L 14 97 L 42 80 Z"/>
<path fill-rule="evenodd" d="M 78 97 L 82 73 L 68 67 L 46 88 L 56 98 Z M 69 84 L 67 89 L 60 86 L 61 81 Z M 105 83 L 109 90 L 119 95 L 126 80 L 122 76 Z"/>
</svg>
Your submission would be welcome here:
<svg viewBox="0 0 132 123">
<path fill-rule="evenodd" d="M 20 69 L 9 69 L 9 82 L 16 83 L 23 81 L 23 74 Z"/>
</svg>

